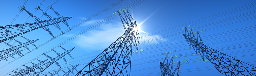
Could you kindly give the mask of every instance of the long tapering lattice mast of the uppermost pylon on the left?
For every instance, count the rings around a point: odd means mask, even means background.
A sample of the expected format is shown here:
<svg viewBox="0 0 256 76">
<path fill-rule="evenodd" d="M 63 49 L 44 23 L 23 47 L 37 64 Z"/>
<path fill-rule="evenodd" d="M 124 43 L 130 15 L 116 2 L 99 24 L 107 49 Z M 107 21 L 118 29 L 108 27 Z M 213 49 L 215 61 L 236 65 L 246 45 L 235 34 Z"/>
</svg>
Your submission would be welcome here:
<svg viewBox="0 0 256 76">
<path fill-rule="evenodd" d="M 21 10 L 23 11 L 24 9 L 22 8 Z M 31 15 L 33 15 L 33 14 L 31 14 Z M 32 18 L 35 18 L 35 17 L 32 17 Z M 44 28 L 44 27 L 52 25 L 52 24 L 60 23 L 60 22 L 66 21 L 70 18 L 72 18 L 72 17 L 59 17 L 59 18 L 54 18 L 54 19 L 50 19 L 50 20 L 37 21 L 34 23 L 0 26 L 0 38 L 1 38 L 0 43 L 4 42 L 6 40 L 12 39 L 14 37 L 20 36 L 22 34 L 25 34 L 27 32 L 30 32 L 32 30 L 35 30 L 38 28 Z M 44 29 L 46 29 L 46 28 L 44 28 Z"/>
</svg>

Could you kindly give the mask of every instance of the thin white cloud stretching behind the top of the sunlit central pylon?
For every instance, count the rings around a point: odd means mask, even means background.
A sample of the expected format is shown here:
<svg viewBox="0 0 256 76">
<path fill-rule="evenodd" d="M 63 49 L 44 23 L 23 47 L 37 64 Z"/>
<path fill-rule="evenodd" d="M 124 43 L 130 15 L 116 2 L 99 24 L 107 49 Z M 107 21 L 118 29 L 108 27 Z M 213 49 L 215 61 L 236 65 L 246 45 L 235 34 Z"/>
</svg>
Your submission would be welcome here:
<svg viewBox="0 0 256 76">
<path fill-rule="evenodd" d="M 95 49 L 101 50 L 102 48 L 107 48 L 111 45 L 117 38 L 119 38 L 124 33 L 123 26 L 118 23 L 104 23 L 97 27 L 97 30 L 91 30 L 85 35 L 79 36 L 74 43 L 85 49 Z M 146 35 L 140 32 L 140 36 Z M 153 38 L 153 42 L 150 44 L 155 44 L 163 41 L 159 35 L 150 35 L 140 39 L 139 41 L 144 41 L 146 39 Z"/>
</svg>

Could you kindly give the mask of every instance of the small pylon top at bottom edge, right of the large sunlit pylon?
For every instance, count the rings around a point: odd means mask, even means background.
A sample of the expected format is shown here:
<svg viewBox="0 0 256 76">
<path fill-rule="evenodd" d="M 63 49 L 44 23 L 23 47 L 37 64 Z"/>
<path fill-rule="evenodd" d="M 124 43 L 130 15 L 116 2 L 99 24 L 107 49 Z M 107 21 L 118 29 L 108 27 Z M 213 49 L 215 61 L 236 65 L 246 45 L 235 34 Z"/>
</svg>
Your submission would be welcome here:
<svg viewBox="0 0 256 76">
<path fill-rule="evenodd" d="M 168 63 L 168 59 L 172 57 L 171 61 Z M 163 62 L 160 62 L 160 69 L 161 69 L 161 76 L 174 76 L 176 70 L 177 71 L 177 76 L 179 76 L 179 71 L 180 71 L 180 61 L 176 68 L 173 71 L 173 57 L 174 56 L 169 56 L 169 52 L 167 53 L 166 57 L 164 58 Z M 166 60 L 167 59 L 167 60 Z M 165 62 L 166 61 L 166 62 Z M 166 64 L 165 64 L 166 63 Z M 169 68 L 171 64 L 171 69 Z"/>
</svg>

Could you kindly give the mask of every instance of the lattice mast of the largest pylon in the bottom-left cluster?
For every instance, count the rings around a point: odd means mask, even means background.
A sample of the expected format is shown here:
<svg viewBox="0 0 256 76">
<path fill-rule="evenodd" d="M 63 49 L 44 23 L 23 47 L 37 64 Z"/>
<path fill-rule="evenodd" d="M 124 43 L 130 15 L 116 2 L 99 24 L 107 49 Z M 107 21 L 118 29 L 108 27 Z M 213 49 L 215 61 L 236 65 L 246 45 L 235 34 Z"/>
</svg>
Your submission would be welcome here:
<svg viewBox="0 0 256 76">
<path fill-rule="evenodd" d="M 69 52 L 71 52 L 74 48 L 65 51 L 64 53 L 62 53 L 61 55 L 58 55 L 56 58 L 49 58 L 51 59 L 49 62 L 33 67 L 30 70 L 24 71 L 20 74 L 20 76 L 38 76 L 40 73 L 42 73 L 45 69 L 47 69 L 51 64 L 55 63 L 61 59 L 62 57 L 64 57 L 65 55 L 67 55 Z M 45 54 L 44 54 L 45 55 Z"/>
</svg>

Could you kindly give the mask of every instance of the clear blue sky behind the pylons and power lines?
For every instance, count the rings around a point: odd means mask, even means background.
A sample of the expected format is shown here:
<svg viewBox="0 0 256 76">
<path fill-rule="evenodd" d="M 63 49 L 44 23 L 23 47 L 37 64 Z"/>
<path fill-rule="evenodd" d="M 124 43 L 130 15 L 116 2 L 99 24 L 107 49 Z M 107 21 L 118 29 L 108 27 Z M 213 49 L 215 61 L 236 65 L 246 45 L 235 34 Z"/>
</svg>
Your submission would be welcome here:
<svg viewBox="0 0 256 76">
<path fill-rule="evenodd" d="M 24 4 L 25 0 L 1 0 L 0 1 L 0 26 L 10 25 L 16 14 L 19 12 L 17 9 L 19 6 Z M 47 7 L 52 5 L 55 0 L 45 0 L 42 5 L 42 10 L 47 10 Z M 70 27 L 76 25 L 80 21 L 88 18 L 94 13 L 100 11 L 101 9 L 107 7 L 108 5 L 114 3 L 116 0 L 92 0 L 92 1 L 83 1 L 83 0 L 58 0 L 54 5 L 53 9 L 59 12 L 64 17 L 73 17 L 67 20 Z M 49 43 L 39 47 L 38 49 L 24 55 L 23 57 L 13 61 L 13 58 L 8 58 L 11 63 L 8 63 L 5 60 L 0 61 L 0 76 L 4 76 L 7 73 L 13 74 L 12 70 L 16 68 L 25 68 L 21 67 L 22 65 L 31 66 L 31 63 L 26 64 L 31 61 L 33 63 L 38 63 L 37 59 L 45 60 L 46 56 L 42 55 L 49 51 L 52 48 L 58 47 L 60 43 L 71 38 L 75 34 L 81 32 L 82 30 L 88 28 L 89 26 L 104 20 L 107 16 L 111 15 L 115 11 L 129 5 L 135 0 L 125 0 L 122 3 L 116 5 L 115 7 L 105 11 L 104 13 L 94 17 L 86 23 L 72 29 L 71 31 L 61 35 L 60 37 L 53 39 Z M 255 2 L 254 0 L 147 0 L 136 7 L 129 10 L 133 15 L 137 24 L 140 25 L 140 30 L 144 32 L 139 32 L 140 36 L 145 36 L 140 39 L 140 42 L 144 43 L 139 45 L 140 49 L 144 49 L 141 53 L 132 54 L 132 67 L 131 67 L 131 76 L 159 76 L 160 67 L 159 61 L 163 61 L 165 55 L 162 55 L 164 52 L 176 50 L 174 53 L 169 55 L 178 55 L 180 57 L 174 59 L 174 61 L 187 60 L 190 59 L 190 62 L 180 65 L 180 75 L 181 76 L 221 76 L 221 74 L 213 67 L 210 62 L 199 62 L 202 58 L 198 55 L 192 55 L 194 50 L 189 48 L 185 38 L 182 36 L 184 29 L 182 27 L 191 25 L 190 28 L 197 27 L 195 31 L 207 30 L 203 33 L 200 33 L 200 36 L 203 39 L 205 45 L 221 51 L 229 56 L 232 56 L 236 59 L 239 59 L 243 62 L 255 66 L 256 56 L 255 56 L 255 25 L 256 19 L 255 10 L 256 7 L 251 7 L 241 11 L 236 11 L 233 13 L 226 13 L 204 19 L 202 21 L 189 23 L 198 19 L 202 19 L 208 16 L 212 16 L 224 11 L 228 11 L 237 7 L 241 7 L 250 3 Z M 35 6 L 38 6 L 41 3 L 39 0 L 28 0 L 25 8 L 29 12 L 33 12 Z M 240 15 L 252 11 L 252 13 L 247 15 Z M 43 13 L 40 10 L 37 10 L 34 15 L 39 17 Z M 53 18 L 57 18 L 56 14 L 49 10 L 47 14 Z M 239 19 L 234 18 L 226 21 L 218 22 L 219 20 L 225 20 L 227 18 L 239 15 Z M 221 16 L 221 17 L 219 17 Z M 29 17 L 29 14 L 25 11 L 22 11 L 13 24 L 22 24 Z M 241 17 L 241 18 L 240 18 Z M 214 18 L 214 19 L 212 19 Z M 230 24 L 235 21 L 249 19 L 242 22 L 237 22 Z M 252 18 L 252 19 L 250 19 Z M 40 17 L 41 20 L 47 20 L 43 15 Z M 211 20 L 209 20 L 211 19 Z M 208 20 L 208 21 L 207 21 Z M 217 23 L 215 23 L 217 21 Z M 26 23 L 35 22 L 30 18 Z M 189 23 L 189 24 L 185 24 Z M 185 24 L 185 25 L 182 25 Z M 227 25 L 229 24 L 229 25 Z M 225 26 L 223 26 L 225 25 Z M 68 28 L 60 23 L 62 30 L 68 30 Z M 178 26 L 178 27 L 177 27 Z M 218 27 L 222 26 L 222 27 Z M 250 27 L 251 26 L 251 27 Z M 175 28 L 177 27 L 177 28 Z M 218 27 L 218 28 L 215 28 Z M 248 27 L 248 28 L 246 28 Z M 169 29 L 159 33 L 155 33 L 161 30 Z M 56 27 L 50 25 L 49 29 L 54 36 L 60 34 L 61 32 L 56 29 Z M 239 31 L 239 30 L 242 31 Z M 71 51 L 71 55 L 74 59 L 71 60 L 71 57 L 68 55 L 65 56 L 69 64 L 77 65 L 77 70 L 81 70 L 86 63 L 90 62 L 94 56 L 100 54 L 102 49 L 106 49 L 111 43 L 113 43 L 118 37 L 124 33 L 123 27 L 121 25 L 121 20 L 119 17 L 115 17 L 108 22 L 90 30 L 75 39 L 68 41 L 63 44 L 62 47 L 66 49 L 74 48 Z M 42 43 L 50 40 L 52 37 L 44 31 L 42 28 L 36 29 L 29 33 L 24 34 L 24 37 L 35 40 L 40 39 L 35 42 L 37 46 Z M 237 38 L 237 39 L 236 39 Z M 24 38 L 15 37 L 14 39 L 19 39 L 19 41 L 25 43 Z M 14 40 L 8 40 L 13 46 L 17 46 Z M 177 43 L 177 44 L 176 44 Z M 4 43 L 1 43 L 0 49 L 4 50 L 10 48 Z M 30 49 L 35 47 L 32 45 L 28 46 Z M 25 48 L 20 48 L 23 50 Z M 64 51 L 58 47 L 54 49 L 59 53 Z M 182 51 L 181 51 L 182 50 Z M 25 49 L 23 53 L 27 53 L 28 50 Z M 46 53 L 47 55 L 55 58 L 57 54 L 53 51 Z M 14 57 L 19 57 L 15 55 Z M 71 67 L 68 64 L 65 64 L 62 59 L 60 59 L 59 64 L 61 67 Z M 176 65 L 174 65 L 176 66 Z M 59 67 L 56 64 L 52 64 L 48 69 L 46 69 L 43 74 L 48 72 L 53 73 L 51 70 L 58 70 Z M 63 68 L 64 71 L 68 71 L 67 68 Z M 17 70 L 16 70 L 17 71 Z M 74 71 L 74 73 L 77 73 Z M 63 75 L 64 72 L 60 71 L 59 75 Z M 50 75 L 50 74 L 49 74 Z M 70 75 L 72 75 L 70 73 Z M 6 75 L 8 76 L 8 75 Z"/>
</svg>

